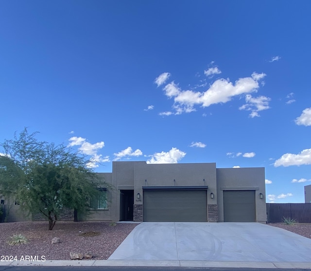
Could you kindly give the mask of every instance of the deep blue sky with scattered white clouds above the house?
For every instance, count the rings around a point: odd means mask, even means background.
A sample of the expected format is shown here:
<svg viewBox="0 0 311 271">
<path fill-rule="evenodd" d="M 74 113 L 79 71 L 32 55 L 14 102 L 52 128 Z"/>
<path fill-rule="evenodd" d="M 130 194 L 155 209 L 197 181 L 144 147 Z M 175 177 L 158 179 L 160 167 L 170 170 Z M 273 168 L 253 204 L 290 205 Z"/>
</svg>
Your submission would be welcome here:
<svg viewBox="0 0 311 271">
<path fill-rule="evenodd" d="M 96 172 L 265 167 L 267 202 L 304 202 L 311 1 L 293 3 L 3 0 L 0 142 L 28 126 Z"/>
</svg>

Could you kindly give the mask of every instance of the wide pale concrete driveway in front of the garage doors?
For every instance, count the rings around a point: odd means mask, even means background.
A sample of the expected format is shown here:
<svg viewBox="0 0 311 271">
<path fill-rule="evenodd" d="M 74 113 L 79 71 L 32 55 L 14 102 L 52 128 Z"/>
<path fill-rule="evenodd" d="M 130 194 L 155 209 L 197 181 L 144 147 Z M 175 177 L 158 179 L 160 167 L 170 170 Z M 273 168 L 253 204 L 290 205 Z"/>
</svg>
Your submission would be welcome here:
<svg viewBox="0 0 311 271">
<path fill-rule="evenodd" d="M 260 223 L 142 222 L 108 260 L 311 262 L 311 239 Z"/>
</svg>

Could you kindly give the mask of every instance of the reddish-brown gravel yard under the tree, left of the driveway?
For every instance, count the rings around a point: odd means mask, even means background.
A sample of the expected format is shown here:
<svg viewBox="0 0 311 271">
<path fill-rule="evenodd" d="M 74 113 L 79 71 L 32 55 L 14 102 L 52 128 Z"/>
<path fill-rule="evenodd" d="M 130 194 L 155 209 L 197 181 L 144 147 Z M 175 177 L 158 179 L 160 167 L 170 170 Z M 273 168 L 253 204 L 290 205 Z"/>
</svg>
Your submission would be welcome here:
<svg viewBox="0 0 311 271">
<path fill-rule="evenodd" d="M 52 231 L 48 231 L 48 221 L 0 223 L 0 256 L 45 256 L 46 260 L 70 260 L 70 252 L 91 252 L 93 259 L 107 259 L 121 244 L 127 235 L 138 225 L 134 223 L 109 222 L 56 222 Z M 100 233 L 97 236 L 81 236 L 83 233 Z M 14 234 L 22 234 L 28 244 L 10 246 L 6 242 Z M 52 244 L 52 238 L 58 237 L 61 243 Z"/>
</svg>

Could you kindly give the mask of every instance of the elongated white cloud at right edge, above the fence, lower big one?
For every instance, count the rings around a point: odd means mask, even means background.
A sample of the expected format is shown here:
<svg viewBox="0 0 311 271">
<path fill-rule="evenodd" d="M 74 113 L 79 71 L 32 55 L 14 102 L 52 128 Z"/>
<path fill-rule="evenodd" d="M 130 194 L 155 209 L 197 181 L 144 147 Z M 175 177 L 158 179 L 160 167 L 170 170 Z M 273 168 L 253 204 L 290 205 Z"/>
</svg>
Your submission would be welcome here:
<svg viewBox="0 0 311 271">
<path fill-rule="evenodd" d="M 274 166 L 290 166 L 311 164 L 311 149 L 305 149 L 298 154 L 286 153 L 277 159 Z"/>
</svg>

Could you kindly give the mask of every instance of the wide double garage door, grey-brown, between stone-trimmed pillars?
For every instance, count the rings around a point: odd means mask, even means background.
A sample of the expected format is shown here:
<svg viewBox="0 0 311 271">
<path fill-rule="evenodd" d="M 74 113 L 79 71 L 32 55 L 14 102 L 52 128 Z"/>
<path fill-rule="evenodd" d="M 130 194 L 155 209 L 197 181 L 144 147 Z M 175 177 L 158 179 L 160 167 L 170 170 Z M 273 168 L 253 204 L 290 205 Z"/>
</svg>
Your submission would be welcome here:
<svg viewBox="0 0 311 271">
<path fill-rule="evenodd" d="M 207 191 L 143 191 L 143 221 L 207 222 Z"/>
</svg>

